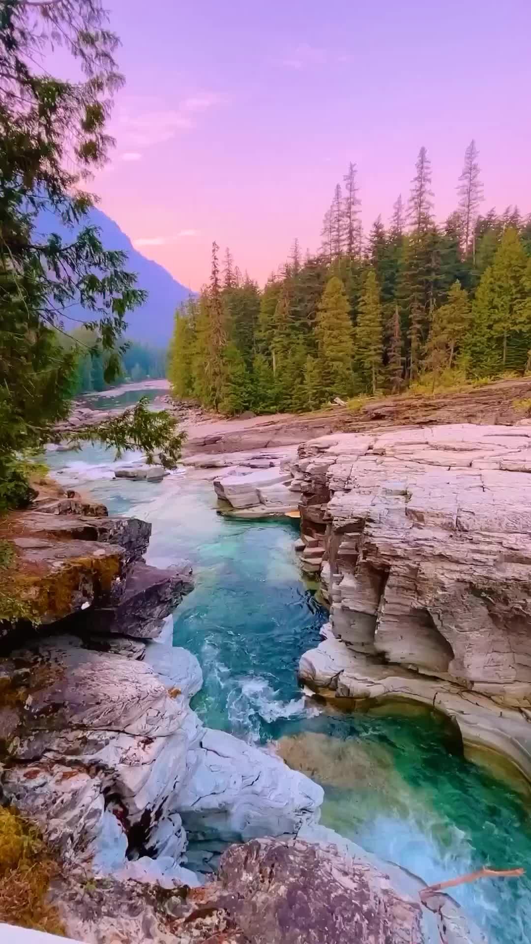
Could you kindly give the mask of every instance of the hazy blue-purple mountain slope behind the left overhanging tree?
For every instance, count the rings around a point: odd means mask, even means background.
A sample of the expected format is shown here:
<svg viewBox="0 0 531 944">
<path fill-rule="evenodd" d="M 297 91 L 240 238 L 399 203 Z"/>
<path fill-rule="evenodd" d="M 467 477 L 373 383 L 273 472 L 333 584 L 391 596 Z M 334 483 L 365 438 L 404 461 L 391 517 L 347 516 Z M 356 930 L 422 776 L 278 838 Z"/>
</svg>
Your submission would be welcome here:
<svg viewBox="0 0 531 944">
<path fill-rule="evenodd" d="M 166 346 L 173 330 L 173 316 L 180 302 L 188 295 L 194 295 L 191 289 L 181 285 L 167 269 L 158 262 L 146 259 L 131 243 L 126 233 L 111 220 L 110 216 L 94 208 L 85 218 L 84 225 L 93 225 L 100 229 L 101 242 L 106 249 L 122 249 L 128 254 L 127 268 L 138 276 L 138 287 L 146 289 L 147 301 L 142 308 L 128 312 L 128 337 L 136 341 L 146 341 L 155 346 Z M 38 229 L 44 234 L 58 233 L 61 237 L 72 236 L 72 230 L 67 229 L 57 216 L 51 211 L 43 211 L 39 215 Z M 70 313 L 76 317 L 82 316 L 83 311 L 73 309 Z"/>
</svg>

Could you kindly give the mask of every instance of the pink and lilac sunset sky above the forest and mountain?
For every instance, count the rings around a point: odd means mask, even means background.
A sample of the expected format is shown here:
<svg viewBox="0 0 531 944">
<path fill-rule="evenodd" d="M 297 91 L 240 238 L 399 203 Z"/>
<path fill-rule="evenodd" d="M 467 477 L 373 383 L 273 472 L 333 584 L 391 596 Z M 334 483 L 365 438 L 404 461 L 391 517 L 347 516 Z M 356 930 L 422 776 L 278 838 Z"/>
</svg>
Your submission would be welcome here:
<svg viewBox="0 0 531 944">
<path fill-rule="evenodd" d="M 127 78 L 101 209 L 185 285 L 211 244 L 264 282 L 294 237 L 317 248 L 350 160 L 364 226 L 428 148 L 439 218 L 463 153 L 484 209 L 531 211 L 530 0 L 107 0 Z"/>
</svg>

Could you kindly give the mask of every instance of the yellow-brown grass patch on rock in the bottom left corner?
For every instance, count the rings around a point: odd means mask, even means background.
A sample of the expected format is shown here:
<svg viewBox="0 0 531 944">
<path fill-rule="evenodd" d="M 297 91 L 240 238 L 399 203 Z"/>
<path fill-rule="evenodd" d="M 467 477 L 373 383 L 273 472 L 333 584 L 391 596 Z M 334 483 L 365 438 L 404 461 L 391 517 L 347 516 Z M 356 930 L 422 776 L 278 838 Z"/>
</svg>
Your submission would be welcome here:
<svg viewBox="0 0 531 944">
<path fill-rule="evenodd" d="M 0 921 L 64 936 L 56 908 L 46 901 L 58 874 L 58 864 L 35 827 L 0 807 Z"/>
</svg>

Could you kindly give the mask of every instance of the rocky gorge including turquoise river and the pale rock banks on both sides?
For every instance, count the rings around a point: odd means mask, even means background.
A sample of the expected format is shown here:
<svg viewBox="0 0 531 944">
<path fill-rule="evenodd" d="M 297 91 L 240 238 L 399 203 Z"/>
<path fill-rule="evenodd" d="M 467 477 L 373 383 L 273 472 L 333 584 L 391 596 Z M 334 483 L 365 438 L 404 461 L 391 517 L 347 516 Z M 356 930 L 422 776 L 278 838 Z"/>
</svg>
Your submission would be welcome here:
<svg viewBox="0 0 531 944">
<path fill-rule="evenodd" d="M 527 442 L 205 436 L 159 481 L 48 453 L 63 495 L 11 518 L 41 625 L 3 627 L 2 791 L 70 936 L 524 944 L 526 876 L 419 891 L 531 854 Z"/>
</svg>

